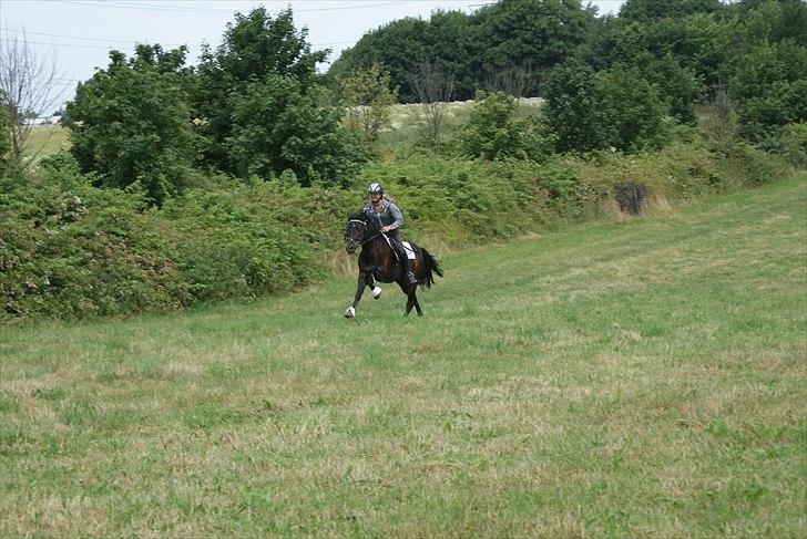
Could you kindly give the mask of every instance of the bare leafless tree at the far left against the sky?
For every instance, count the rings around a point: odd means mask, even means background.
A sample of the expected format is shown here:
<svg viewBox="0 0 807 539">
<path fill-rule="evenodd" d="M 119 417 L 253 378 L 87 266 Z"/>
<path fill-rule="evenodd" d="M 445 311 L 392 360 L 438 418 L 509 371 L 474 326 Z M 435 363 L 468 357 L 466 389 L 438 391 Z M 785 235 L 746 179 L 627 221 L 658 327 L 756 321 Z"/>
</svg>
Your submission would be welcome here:
<svg viewBox="0 0 807 539">
<path fill-rule="evenodd" d="M 31 117 L 52 111 L 64 95 L 55 59 L 32 49 L 21 37 L 7 37 L 0 42 L 0 91 L 2 105 L 11 122 L 11 157 L 22 156 L 25 141 L 33 129 Z"/>
</svg>

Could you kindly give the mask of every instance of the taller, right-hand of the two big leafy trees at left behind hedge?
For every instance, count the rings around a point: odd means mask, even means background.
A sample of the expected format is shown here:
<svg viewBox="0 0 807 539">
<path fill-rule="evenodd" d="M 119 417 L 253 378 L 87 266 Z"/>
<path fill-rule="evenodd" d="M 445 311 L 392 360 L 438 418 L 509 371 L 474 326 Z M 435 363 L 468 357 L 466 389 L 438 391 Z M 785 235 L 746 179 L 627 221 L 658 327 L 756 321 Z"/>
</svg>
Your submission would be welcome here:
<svg viewBox="0 0 807 539">
<path fill-rule="evenodd" d="M 321 99 L 316 65 L 327 51 L 311 52 L 306 35 L 292 10 L 272 18 L 257 8 L 236 13 L 222 44 L 205 51 L 191 93 L 208 165 L 241 177 L 290 169 L 304 184 L 345 179 L 343 159 L 362 153 L 341 132 L 341 111 Z"/>
</svg>

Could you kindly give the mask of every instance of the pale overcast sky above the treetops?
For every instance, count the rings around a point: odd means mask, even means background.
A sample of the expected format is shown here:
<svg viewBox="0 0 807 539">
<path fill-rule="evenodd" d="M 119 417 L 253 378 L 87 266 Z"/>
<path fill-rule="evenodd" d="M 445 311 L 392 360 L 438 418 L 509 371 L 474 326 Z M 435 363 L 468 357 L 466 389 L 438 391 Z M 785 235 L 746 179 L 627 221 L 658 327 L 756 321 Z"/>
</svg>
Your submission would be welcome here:
<svg viewBox="0 0 807 539">
<path fill-rule="evenodd" d="M 616 13 L 624 0 L 592 0 L 600 14 Z M 308 29 L 314 49 L 331 49 L 328 62 L 366 32 L 405 17 L 428 19 L 432 11 L 471 13 L 492 0 L 0 0 L 0 46 L 21 38 L 43 58 L 52 58 L 61 100 L 75 84 L 109 63 L 109 51 L 131 53 L 135 42 L 165 49 L 188 46 L 195 64 L 203 42 L 221 43 L 234 13 L 264 6 L 270 13 L 288 7 L 298 29 Z M 584 2 L 585 3 L 585 2 Z M 320 65 L 326 71 L 328 64 Z"/>
</svg>

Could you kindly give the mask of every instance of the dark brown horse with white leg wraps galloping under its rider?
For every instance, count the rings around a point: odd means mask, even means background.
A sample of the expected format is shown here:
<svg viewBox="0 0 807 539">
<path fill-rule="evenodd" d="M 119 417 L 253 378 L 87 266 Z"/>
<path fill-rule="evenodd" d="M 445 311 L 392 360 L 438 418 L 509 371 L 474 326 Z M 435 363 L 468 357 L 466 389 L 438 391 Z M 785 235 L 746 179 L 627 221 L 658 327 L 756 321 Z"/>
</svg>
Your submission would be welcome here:
<svg viewBox="0 0 807 539">
<path fill-rule="evenodd" d="M 415 307 L 418 317 L 423 315 L 423 310 L 420 309 L 418 302 L 417 288 L 418 284 L 420 284 L 420 288 L 430 288 L 435 282 L 435 273 L 442 277 L 440 263 L 425 248 L 410 242 L 411 249 L 406 250 L 415 253 L 415 260 L 411 260 L 411 269 L 418 280 L 417 283 L 410 283 L 407 281 L 404 265 L 398 260 L 388 241 L 392 240 L 388 240 L 381 232 L 377 219 L 368 218 L 362 211 L 356 211 L 348 216 L 345 249 L 349 255 L 353 255 L 356 249 L 361 247 L 361 252 L 359 253 L 359 281 L 356 298 L 345 311 L 345 318 L 356 317 L 356 309 L 361 300 L 361 294 L 365 292 L 365 287 L 370 289 L 374 299 L 381 297 L 381 289 L 376 286 L 376 281 L 397 282 L 404 293 L 407 294 L 407 307 L 404 314 L 408 315 L 409 311 Z"/>
</svg>

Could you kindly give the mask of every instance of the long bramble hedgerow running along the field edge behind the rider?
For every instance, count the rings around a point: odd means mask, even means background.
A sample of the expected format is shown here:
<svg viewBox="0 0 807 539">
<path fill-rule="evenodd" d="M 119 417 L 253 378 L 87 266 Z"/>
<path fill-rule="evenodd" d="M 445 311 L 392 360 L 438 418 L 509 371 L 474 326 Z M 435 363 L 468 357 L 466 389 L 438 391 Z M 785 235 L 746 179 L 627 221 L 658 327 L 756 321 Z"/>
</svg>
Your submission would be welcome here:
<svg viewBox="0 0 807 539">
<path fill-rule="evenodd" d="M 366 165 L 347 189 L 194 173 L 155 208 L 136 183 L 95 187 L 59 154 L 0 180 L 0 321 L 178 311 L 326 279 L 370 182 L 402 208 L 406 236 L 451 249 L 601 218 L 620 183 L 685 203 L 786 172 L 747 143 L 688 133 L 661 151 L 543 163 L 401 152 Z"/>
</svg>

